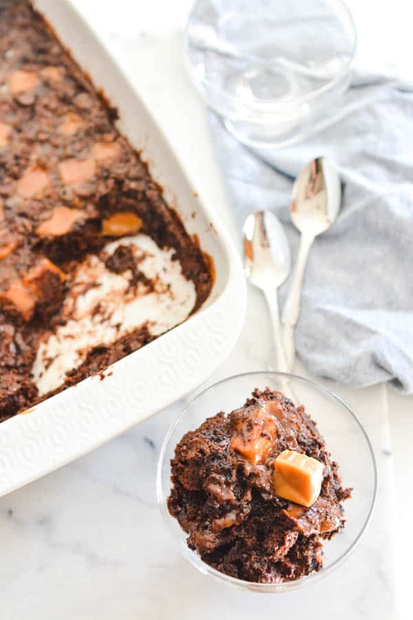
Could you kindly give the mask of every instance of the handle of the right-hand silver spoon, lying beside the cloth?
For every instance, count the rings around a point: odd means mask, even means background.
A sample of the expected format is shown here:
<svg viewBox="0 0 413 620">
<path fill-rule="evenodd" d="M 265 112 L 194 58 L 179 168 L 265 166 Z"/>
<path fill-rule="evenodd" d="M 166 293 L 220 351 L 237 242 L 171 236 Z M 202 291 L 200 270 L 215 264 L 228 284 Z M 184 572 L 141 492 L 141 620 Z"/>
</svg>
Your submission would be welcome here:
<svg viewBox="0 0 413 620">
<path fill-rule="evenodd" d="M 301 289 L 303 286 L 308 252 L 313 245 L 314 239 L 314 236 L 301 234 L 293 280 L 282 310 L 282 335 L 288 372 L 293 370 L 295 362 L 295 325 L 297 324 L 299 311 L 301 309 Z"/>
</svg>

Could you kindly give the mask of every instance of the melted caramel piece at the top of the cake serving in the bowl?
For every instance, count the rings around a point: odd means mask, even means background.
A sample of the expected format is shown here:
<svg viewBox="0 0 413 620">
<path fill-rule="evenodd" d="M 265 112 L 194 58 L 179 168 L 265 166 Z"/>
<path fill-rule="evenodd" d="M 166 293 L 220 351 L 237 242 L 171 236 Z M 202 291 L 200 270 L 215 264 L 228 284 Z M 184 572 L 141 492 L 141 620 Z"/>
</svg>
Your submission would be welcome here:
<svg viewBox="0 0 413 620">
<path fill-rule="evenodd" d="M 277 435 L 277 424 L 264 408 L 256 409 L 237 428 L 231 448 L 240 452 L 253 465 L 262 463 Z"/>
</svg>

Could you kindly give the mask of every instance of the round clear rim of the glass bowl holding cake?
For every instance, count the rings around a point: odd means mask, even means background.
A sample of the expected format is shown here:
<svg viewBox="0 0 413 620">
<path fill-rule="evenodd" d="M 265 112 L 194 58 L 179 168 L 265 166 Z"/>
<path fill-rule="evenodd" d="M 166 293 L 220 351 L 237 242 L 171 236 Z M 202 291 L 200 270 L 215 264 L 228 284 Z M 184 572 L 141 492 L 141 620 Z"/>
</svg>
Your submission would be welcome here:
<svg viewBox="0 0 413 620">
<path fill-rule="evenodd" d="M 341 404 L 341 406 L 343 406 L 344 409 L 346 409 L 348 413 L 350 413 L 351 417 L 353 418 L 353 420 L 356 422 L 357 426 L 359 427 L 359 430 L 361 431 L 364 439 L 366 440 L 366 444 L 367 444 L 368 451 L 370 453 L 370 457 L 372 461 L 374 488 L 373 488 L 370 508 L 368 510 L 366 518 L 364 519 L 363 526 L 360 528 L 359 533 L 357 534 L 357 537 L 352 541 L 352 544 L 350 544 L 350 546 L 348 546 L 348 548 L 346 548 L 346 550 L 339 557 L 337 557 L 337 559 L 332 561 L 332 564 L 330 564 L 330 566 L 328 566 L 327 568 L 322 568 L 319 572 L 313 572 L 310 575 L 306 575 L 305 577 L 300 577 L 299 579 L 295 579 L 293 581 L 283 581 L 282 583 L 259 583 L 257 581 L 246 581 L 245 579 L 238 579 L 237 577 L 231 577 L 231 575 L 226 575 L 224 572 L 220 572 L 219 570 L 216 570 L 216 568 L 209 566 L 209 564 L 204 562 L 196 552 L 189 549 L 186 544 L 182 544 L 182 541 L 178 541 L 178 538 L 173 536 L 173 539 L 179 543 L 178 547 L 180 548 L 180 551 L 182 552 L 184 557 L 186 557 L 187 560 L 193 566 L 195 566 L 195 568 L 198 568 L 198 570 L 200 570 L 204 574 L 209 574 L 215 579 L 219 579 L 220 581 L 229 583 L 231 586 L 237 586 L 238 588 L 244 588 L 247 590 L 254 590 L 256 592 L 286 592 L 288 590 L 297 590 L 299 588 L 303 588 L 305 586 L 310 585 L 311 583 L 315 583 L 316 581 L 319 581 L 319 579 L 323 579 L 324 577 L 327 577 L 327 575 L 330 575 L 330 573 L 336 568 L 338 568 L 342 564 L 343 561 L 348 559 L 348 557 L 354 551 L 354 549 L 357 548 L 361 538 L 363 537 L 363 534 L 366 532 L 366 528 L 368 527 L 368 524 L 370 522 L 373 510 L 374 510 L 374 505 L 376 503 L 377 488 L 378 488 L 377 462 L 376 462 L 376 458 L 374 457 L 374 450 L 370 442 L 370 438 L 368 437 L 368 433 L 366 429 L 364 428 L 363 424 L 361 424 L 357 415 L 352 411 L 350 406 L 341 397 L 337 396 L 337 394 L 332 392 L 330 389 L 315 383 L 314 381 L 310 379 L 301 377 L 300 375 L 294 375 L 292 373 L 280 373 L 280 372 L 275 372 L 275 371 L 251 371 L 251 372 L 245 372 L 245 373 L 237 373 L 236 375 L 230 375 L 229 377 L 226 377 L 224 379 L 221 379 L 218 382 L 213 383 L 212 385 L 208 386 L 207 388 L 200 391 L 200 393 L 195 395 L 184 406 L 184 409 L 182 409 L 182 411 L 176 416 L 175 420 L 173 420 L 171 426 L 169 427 L 169 431 L 167 432 L 167 435 L 165 436 L 165 440 L 162 443 L 162 448 L 161 448 L 160 455 L 158 458 L 157 471 L 156 471 L 156 499 L 157 499 L 158 507 L 160 509 L 160 513 L 162 515 L 162 519 L 164 521 L 164 525 L 169 530 L 169 524 L 171 523 L 171 520 L 173 519 L 173 517 L 169 514 L 167 510 L 166 502 L 164 499 L 165 493 L 164 493 L 164 489 L 162 486 L 162 469 L 163 469 L 163 465 L 165 462 L 165 452 L 167 451 L 167 446 L 169 444 L 169 440 L 171 439 L 171 435 L 173 431 L 175 430 L 176 426 L 180 422 L 182 416 L 185 413 L 187 413 L 187 410 L 189 409 L 189 407 L 192 406 L 196 400 L 198 400 L 198 397 L 205 395 L 207 392 L 215 389 L 215 387 L 220 386 L 231 380 L 239 379 L 239 378 L 247 377 L 247 376 L 252 377 L 254 375 L 256 376 L 257 375 L 271 375 L 274 378 L 284 377 L 284 378 L 298 380 L 299 382 L 303 382 L 311 386 L 312 388 L 315 388 L 316 390 L 319 390 L 325 393 L 326 395 L 331 397 L 333 400 L 336 400 L 337 402 L 339 402 L 339 404 Z"/>
</svg>

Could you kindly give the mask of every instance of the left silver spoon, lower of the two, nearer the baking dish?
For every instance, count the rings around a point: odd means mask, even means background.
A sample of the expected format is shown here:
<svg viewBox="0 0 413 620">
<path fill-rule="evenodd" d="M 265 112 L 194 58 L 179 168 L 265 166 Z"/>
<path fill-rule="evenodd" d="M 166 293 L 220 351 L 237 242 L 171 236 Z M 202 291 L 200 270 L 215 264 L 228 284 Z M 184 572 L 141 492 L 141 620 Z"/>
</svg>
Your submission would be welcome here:
<svg viewBox="0 0 413 620">
<path fill-rule="evenodd" d="M 282 344 L 277 289 L 290 273 L 290 247 L 282 225 L 271 211 L 255 211 L 248 216 L 243 232 L 246 277 L 264 293 L 273 324 L 275 368 L 285 373 L 288 369 Z"/>
</svg>

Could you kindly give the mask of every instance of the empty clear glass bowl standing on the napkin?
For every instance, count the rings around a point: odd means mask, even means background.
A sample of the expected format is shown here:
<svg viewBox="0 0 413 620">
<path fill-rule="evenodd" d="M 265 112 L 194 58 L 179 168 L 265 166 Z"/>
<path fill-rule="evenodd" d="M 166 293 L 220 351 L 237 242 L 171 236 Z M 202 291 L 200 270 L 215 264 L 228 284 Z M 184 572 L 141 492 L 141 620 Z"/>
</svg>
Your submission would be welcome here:
<svg viewBox="0 0 413 620">
<path fill-rule="evenodd" d="M 255 147 L 293 144 L 325 121 L 356 44 L 341 0 L 198 0 L 184 38 L 208 105 Z"/>
</svg>

